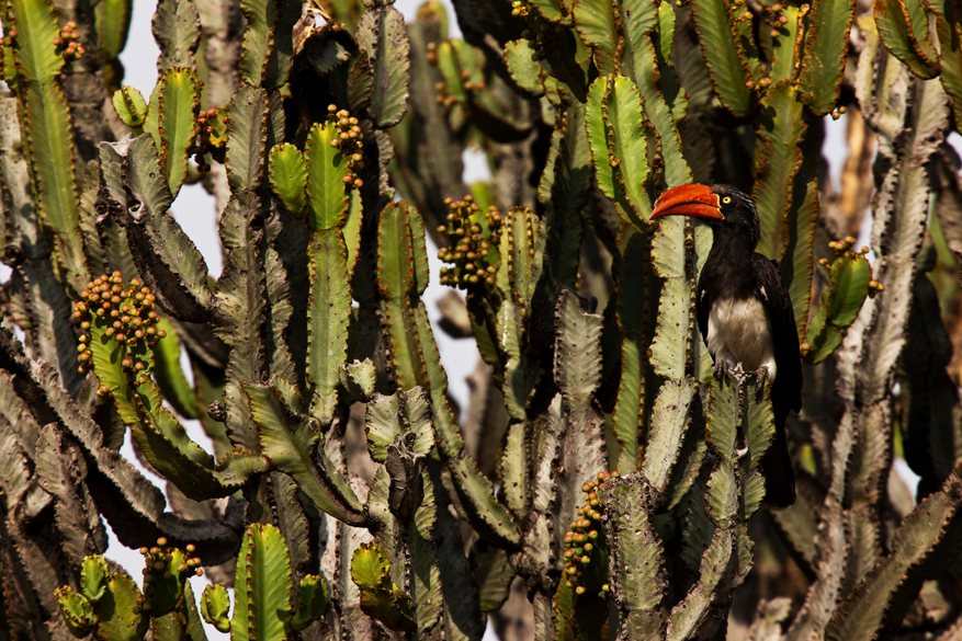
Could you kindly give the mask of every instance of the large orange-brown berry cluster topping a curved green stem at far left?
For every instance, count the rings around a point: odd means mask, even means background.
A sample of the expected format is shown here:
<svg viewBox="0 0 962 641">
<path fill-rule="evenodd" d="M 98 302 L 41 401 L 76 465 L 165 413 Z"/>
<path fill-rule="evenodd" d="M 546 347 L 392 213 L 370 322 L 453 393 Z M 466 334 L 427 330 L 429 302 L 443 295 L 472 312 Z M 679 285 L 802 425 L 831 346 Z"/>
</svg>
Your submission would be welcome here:
<svg viewBox="0 0 962 641">
<path fill-rule="evenodd" d="M 154 311 L 154 295 L 149 287 L 143 287 L 137 278 L 131 281 L 131 287 L 124 288 L 124 279 L 120 272 L 110 276 L 103 275 L 87 284 L 87 289 L 80 293 L 80 302 L 73 306 L 73 320 L 81 321 L 80 329 L 84 334 L 80 336 L 81 374 L 89 366 L 90 353 L 90 327 L 91 320 L 99 327 L 104 327 L 104 333 L 113 337 L 122 347 L 126 348 L 121 365 L 133 376 L 136 376 L 137 385 L 147 382 L 154 360 L 150 357 L 150 347 L 167 335 L 163 330 L 155 325 L 160 317 Z M 101 396 L 107 392 L 105 386 L 98 389 Z"/>
</svg>

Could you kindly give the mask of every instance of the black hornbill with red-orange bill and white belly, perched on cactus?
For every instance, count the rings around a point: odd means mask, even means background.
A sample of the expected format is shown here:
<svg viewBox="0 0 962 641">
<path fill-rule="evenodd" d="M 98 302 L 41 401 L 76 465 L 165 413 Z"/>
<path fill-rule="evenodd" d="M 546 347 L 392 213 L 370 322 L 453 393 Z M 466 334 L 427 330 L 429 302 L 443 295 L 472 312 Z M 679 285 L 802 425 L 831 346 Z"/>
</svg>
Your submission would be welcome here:
<svg viewBox="0 0 962 641">
<path fill-rule="evenodd" d="M 771 382 L 776 436 L 761 460 L 765 501 L 788 507 L 795 502 L 795 474 L 785 419 L 790 409 L 802 409 L 802 358 L 792 300 L 778 266 L 755 251 L 755 202 L 727 185 L 681 185 L 655 202 L 652 218 L 661 216 L 701 218 L 714 232 L 698 279 L 698 327 L 717 375 L 740 364 L 743 371 Z"/>
</svg>

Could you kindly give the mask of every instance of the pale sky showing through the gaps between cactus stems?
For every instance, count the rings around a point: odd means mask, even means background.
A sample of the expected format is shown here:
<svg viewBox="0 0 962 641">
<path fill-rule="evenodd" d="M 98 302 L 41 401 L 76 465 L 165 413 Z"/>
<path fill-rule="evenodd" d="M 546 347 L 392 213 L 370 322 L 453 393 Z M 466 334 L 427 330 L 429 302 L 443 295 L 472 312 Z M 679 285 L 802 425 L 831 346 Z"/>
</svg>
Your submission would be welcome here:
<svg viewBox="0 0 962 641">
<path fill-rule="evenodd" d="M 452 37 L 459 37 L 461 35 L 461 31 L 457 26 L 456 19 L 454 18 L 454 12 L 451 9 L 450 0 L 442 1 L 449 9 L 451 18 L 449 22 L 451 35 Z M 421 0 L 397 0 L 395 5 L 405 14 L 408 20 L 412 20 L 415 12 L 420 3 Z M 154 42 L 154 36 L 150 32 L 150 19 L 154 14 L 155 8 L 156 0 L 135 0 L 131 34 L 127 41 L 128 46 L 121 54 L 121 60 L 126 70 L 126 75 L 124 78 L 125 84 L 137 88 L 145 96 L 150 95 L 154 89 L 154 84 L 157 81 L 156 62 L 159 51 Z M 826 139 L 823 151 L 828 160 L 830 175 L 836 182 L 836 186 L 838 186 L 838 176 L 840 174 L 841 167 L 848 156 L 848 149 L 845 144 L 845 117 L 846 116 L 842 116 L 839 121 L 831 121 L 830 118 L 826 117 L 825 121 Z M 960 137 L 958 134 L 953 134 L 950 138 L 950 141 L 953 144 L 957 150 L 962 150 L 962 145 L 959 144 Z M 483 160 L 483 157 L 476 152 L 466 152 L 465 182 L 469 184 L 478 180 L 485 180 L 489 178 L 489 175 L 490 174 Z M 455 194 L 451 195 L 455 196 Z M 174 201 L 173 203 L 172 211 L 174 218 L 178 220 L 178 222 L 180 222 L 181 227 L 183 227 L 184 231 L 188 233 L 188 236 L 191 237 L 191 239 L 197 245 L 197 249 L 206 259 L 211 275 L 214 277 L 219 276 L 222 270 L 222 260 L 216 231 L 217 215 L 214 207 L 213 196 L 208 195 L 199 184 L 184 186 L 181 190 L 177 201 Z M 867 220 L 867 222 L 869 221 Z M 864 240 L 868 236 L 868 227 L 869 225 L 867 224 L 864 226 L 865 229 L 863 229 L 862 238 L 859 239 L 859 245 L 867 244 Z M 431 284 L 429 285 L 428 290 L 425 295 L 425 302 L 428 308 L 428 313 L 431 319 L 432 325 L 434 327 L 434 336 L 441 351 L 441 360 L 448 371 L 451 393 L 457 400 L 462 408 L 466 408 L 467 385 L 465 382 L 465 377 L 471 374 L 477 363 L 477 347 L 473 340 L 455 341 L 453 339 L 450 339 L 437 327 L 439 312 L 435 307 L 435 301 L 440 296 L 444 295 L 448 291 L 448 288 L 442 287 L 438 284 L 438 275 L 441 263 L 437 259 L 437 248 L 432 245 L 430 239 L 428 243 L 428 252 L 430 256 L 431 267 Z M 5 282 L 8 277 L 9 268 L 7 268 L 5 266 L 0 266 L 0 282 Z M 184 370 L 188 376 L 190 376 L 190 369 L 185 367 Z M 203 447 L 205 447 L 208 451 L 211 451 L 212 448 L 210 438 L 207 438 L 207 436 L 203 433 L 203 430 L 200 427 L 200 423 L 197 421 L 185 421 L 184 423 L 191 437 Z M 133 456 L 129 438 L 126 440 L 122 451 L 129 460 L 134 461 L 134 463 L 139 467 L 139 463 L 137 463 L 136 458 Z M 905 466 L 904 461 L 896 461 L 896 468 L 898 469 L 903 478 L 905 478 L 906 481 L 912 483 L 912 487 L 914 487 L 914 481 L 917 481 L 917 478 L 913 479 L 914 474 L 912 474 L 912 472 L 907 469 L 907 466 Z M 166 481 L 163 479 L 160 479 L 149 471 L 143 470 L 143 468 L 142 471 L 148 478 L 151 478 L 154 482 L 161 489 L 166 487 Z M 137 580 L 137 582 L 139 583 L 142 577 L 140 571 L 144 566 L 143 558 L 137 551 L 124 548 L 116 540 L 113 531 L 110 531 L 110 548 L 106 552 L 106 556 L 124 565 L 127 571 L 131 572 L 132 576 L 134 576 L 135 580 Z M 204 585 L 206 585 L 207 583 L 206 579 L 195 577 L 191 580 L 191 583 L 194 588 L 194 593 L 200 598 Z M 205 623 L 205 627 L 207 630 L 207 636 L 212 640 L 228 638 L 227 634 L 217 632 L 212 626 L 207 626 Z M 496 636 L 489 628 L 486 634 L 486 641 L 494 641 L 494 639 L 496 639 Z"/>
</svg>

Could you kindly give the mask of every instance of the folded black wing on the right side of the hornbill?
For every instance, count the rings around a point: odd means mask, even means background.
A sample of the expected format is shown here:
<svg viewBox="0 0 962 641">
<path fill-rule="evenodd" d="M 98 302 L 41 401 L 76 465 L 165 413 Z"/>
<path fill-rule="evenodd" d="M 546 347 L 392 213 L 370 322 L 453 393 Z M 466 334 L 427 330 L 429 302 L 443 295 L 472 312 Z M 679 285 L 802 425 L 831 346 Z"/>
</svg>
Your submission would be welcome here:
<svg viewBox="0 0 962 641">
<path fill-rule="evenodd" d="M 772 389 L 772 401 L 782 401 L 799 412 L 802 409 L 802 355 L 799 350 L 799 330 L 795 327 L 792 299 L 774 262 L 759 253 L 752 254 L 751 271 L 755 273 L 759 298 L 771 323 L 771 337 L 774 343 L 778 374 Z"/>
</svg>

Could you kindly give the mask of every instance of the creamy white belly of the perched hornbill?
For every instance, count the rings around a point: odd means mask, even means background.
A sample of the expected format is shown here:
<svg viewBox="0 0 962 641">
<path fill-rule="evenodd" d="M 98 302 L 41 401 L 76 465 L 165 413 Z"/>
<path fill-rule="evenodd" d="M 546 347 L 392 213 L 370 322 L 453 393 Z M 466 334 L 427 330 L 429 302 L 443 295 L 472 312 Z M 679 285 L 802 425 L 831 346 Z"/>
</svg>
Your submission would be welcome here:
<svg viewBox="0 0 962 641">
<path fill-rule="evenodd" d="M 715 301 L 709 313 L 708 344 L 715 360 L 724 358 L 732 367 L 740 363 L 745 371 L 765 367 L 768 379 L 774 380 L 771 325 L 765 308 L 755 298 Z"/>
</svg>

